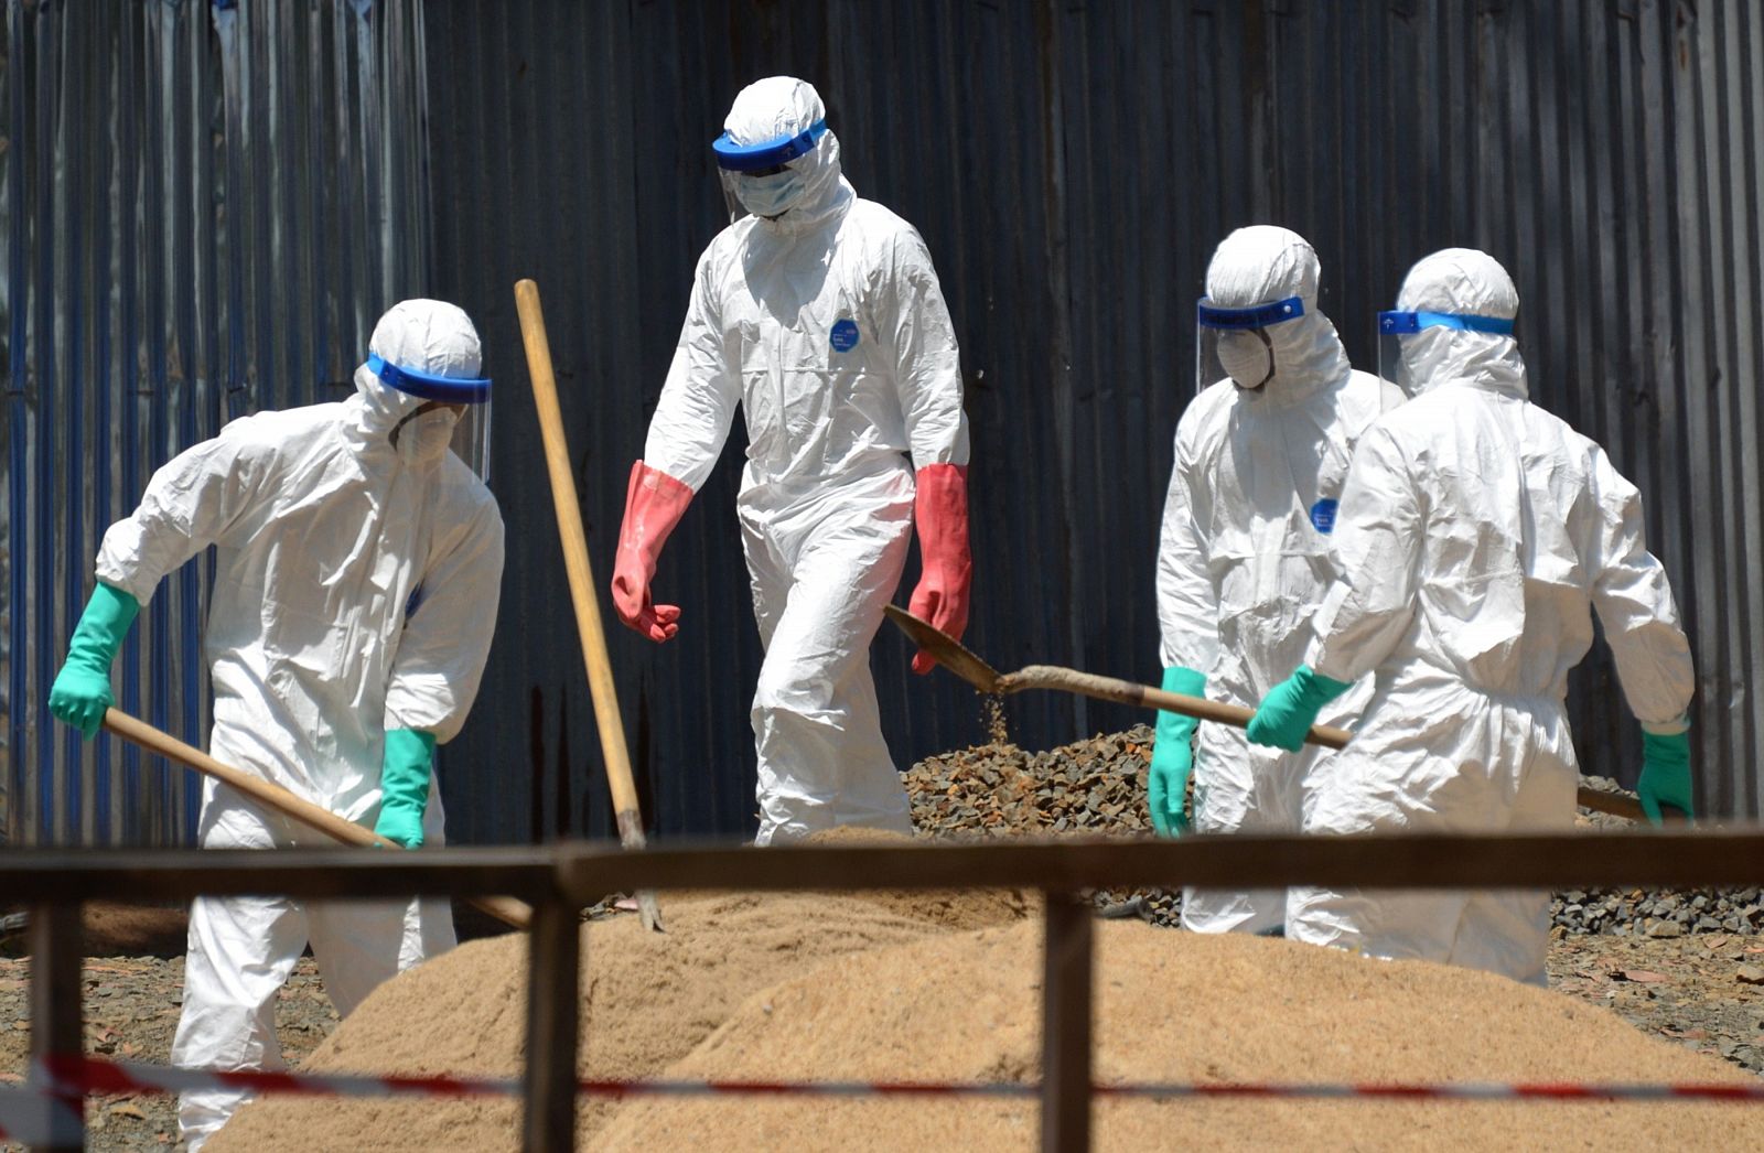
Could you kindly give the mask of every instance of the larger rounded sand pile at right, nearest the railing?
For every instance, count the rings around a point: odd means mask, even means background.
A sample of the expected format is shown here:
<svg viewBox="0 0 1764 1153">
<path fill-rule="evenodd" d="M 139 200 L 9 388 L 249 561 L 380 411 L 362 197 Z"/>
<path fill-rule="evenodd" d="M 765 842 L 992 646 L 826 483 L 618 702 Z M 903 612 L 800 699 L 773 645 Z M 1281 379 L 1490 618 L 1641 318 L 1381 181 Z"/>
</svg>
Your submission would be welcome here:
<svg viewBox="0 0 1764 1153">
<path fill-rule="evenodd" d="M 1279 940 L 1099 924 L 1099 1081 L 1753 1079 L 1499 977 Z M 1039 1075 L 1039 927 L 831 961 L 748 1000 L 669 1070 L 730 1079 Z M 1764 1148 L 1699 1104 L 1102 1100 L 1097 1148 Z M 621 1109 L 598 1149 L 1027 1149 L 1032 1102 L 693 1098 Z"/>
</svg>

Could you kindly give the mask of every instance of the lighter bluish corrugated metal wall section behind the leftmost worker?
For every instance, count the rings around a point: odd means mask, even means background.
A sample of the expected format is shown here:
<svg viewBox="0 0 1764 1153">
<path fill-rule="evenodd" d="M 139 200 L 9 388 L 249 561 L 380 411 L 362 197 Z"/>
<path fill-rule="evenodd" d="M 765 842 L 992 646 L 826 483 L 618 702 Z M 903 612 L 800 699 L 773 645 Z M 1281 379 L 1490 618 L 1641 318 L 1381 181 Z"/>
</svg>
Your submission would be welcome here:
<svg viewBox="0 0 1764 1153">
<path fill-rule="evenodd" d="M 0 85 L 7 462 L 0 651 L 14 843 L 189 839 L 183 769 L 55 725 L 92 559 L 220 423 L 342 395 L 427 254 L 409 4 L 9 0 Z M 205 561 L 159 589 L 118 705 L 206 739 Z"/>
</svg>

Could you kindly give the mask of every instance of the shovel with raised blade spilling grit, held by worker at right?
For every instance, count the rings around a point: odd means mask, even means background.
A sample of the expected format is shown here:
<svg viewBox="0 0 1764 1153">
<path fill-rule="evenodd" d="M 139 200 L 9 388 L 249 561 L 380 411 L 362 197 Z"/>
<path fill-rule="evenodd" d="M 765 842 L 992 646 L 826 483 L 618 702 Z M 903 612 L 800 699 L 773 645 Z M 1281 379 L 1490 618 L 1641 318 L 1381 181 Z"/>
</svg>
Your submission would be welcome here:
<svg viewBox="0 0 1764 1153">
<path fill-rule="evenodd" d="M 930 622 L 921 621 L 905 608 L 886 605 L 882 612 L 886 612 L 887 619 L 898 624 L 916 645 L 930 652 L 938 665 L 986 695 L 1007 696 L 1011 693 L 1021 693 L 1023 689 L 1053 689 L 1057 693 L 1095 696 L 1097 700 L 1113 700 L 1124 705 L 1138 705 L 1141 709 L 1180 712 L 1182 716 L 1191 716 L 1201 721 L 1217 721 L 1235 728 L 1249 728 L 1251 718 L 1256 716 L 1254 709 L 1245 709 L 1244 705 L 1228 705 L 1219 700 L 1189 696 L 1185 693 L 1168 693 L 1145 684 L 1134 684 L 1132 681 L 1099 677 L 1095 673 L 1078 672 L 1076 668 L 1060 668 L 1058 665 L 1025 665 L 1013 673 L 1000 673 L 997 668 L 968 651 L 960 640 L 938 628 L 933 628 Z M 1346 728 L 1312 725 L 1311 732 L 1305 735 L 1305 744 L 1319 744 L 1325 749 L 1341 749 L 1346 748 L 1351 737 L 1353 733 Z M 1579 792 L 1579 804 L 1596 813 L 1626 816 L 1633 822 L 1644 820 L 1642 806 L 1637 800 L 1618 793 L 1602 793 L 1595 788 L 1586 788 L 1584 785 Z"/>
</svg>

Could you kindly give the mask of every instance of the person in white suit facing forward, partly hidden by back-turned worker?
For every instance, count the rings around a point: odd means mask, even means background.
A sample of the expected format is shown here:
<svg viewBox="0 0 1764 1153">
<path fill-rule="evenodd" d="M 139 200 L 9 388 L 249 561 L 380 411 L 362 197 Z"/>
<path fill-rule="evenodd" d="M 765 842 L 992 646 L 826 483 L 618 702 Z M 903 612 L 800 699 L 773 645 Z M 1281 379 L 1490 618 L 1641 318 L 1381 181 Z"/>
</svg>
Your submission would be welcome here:
<svg viewBox="0 0 1764 1153">
<path fill-rule="evenodd" d="M 1284 227 L 1240 227 L 1219 245 L 1198 305 L 1200 395 L 1177 423 L 1157 552 L 1164 688 L 1252 707 L 1311 643 L 1328 589 L 1328 534 L 1355 441 L 1401 402 L 1348 363 L 1318 309 L 1318 256 Z M 1369 688 L 1334 703 L 1348 723 Z M 1251 746 L 1244 732 L 1159 712 L 1148 776 L 1152 823 L 1298 832 L 1305 774 L 1325 751 Z M 1286 890 L 1185 890 L 1201 933 L 1281 933 Z"/>
</svg>

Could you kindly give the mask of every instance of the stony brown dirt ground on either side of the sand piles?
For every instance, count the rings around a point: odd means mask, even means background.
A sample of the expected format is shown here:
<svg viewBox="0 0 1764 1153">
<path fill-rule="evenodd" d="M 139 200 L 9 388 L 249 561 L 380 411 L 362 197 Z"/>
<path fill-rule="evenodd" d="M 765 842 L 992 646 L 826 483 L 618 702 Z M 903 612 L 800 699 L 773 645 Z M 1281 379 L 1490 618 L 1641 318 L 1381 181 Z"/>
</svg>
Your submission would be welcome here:
<svg viewBox="0 0 1764 1153">
<path fill-rule="evenodd" d="M 462 936 L 475 922 L 462 919 Z M 93 956 L 85 966 L 90 1053 L 164 1063 L 183 993 L 183 917 L 176 910 L 93 910 Z M 1175 933 L 1175 929 L 1171 929 Z M 0 1084 L 23 1079 L 30 1047 L 28 959 L 18 938 L 0 945 Z M 1596 1005 L 1637 1030 L 1730 1065 L 1764 1067 L 1764 936 L 1695 934 L 1676 940 L 1563 936 L 1551 941 L 1551 987 Z M 277 1033 L 291 1065 L 337 1024 L 312 959 L 303 957 L 277 1001 Z M 1736 1105 L 1739 1109 L 1743 1105 Z M 176 1148 L 171 1097 L 122 1095 L 88 1102 L 90 1149 Z M 7 1151 L 19 1146 L 4 1146 Z"/>
</svg>

